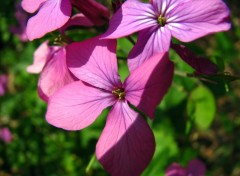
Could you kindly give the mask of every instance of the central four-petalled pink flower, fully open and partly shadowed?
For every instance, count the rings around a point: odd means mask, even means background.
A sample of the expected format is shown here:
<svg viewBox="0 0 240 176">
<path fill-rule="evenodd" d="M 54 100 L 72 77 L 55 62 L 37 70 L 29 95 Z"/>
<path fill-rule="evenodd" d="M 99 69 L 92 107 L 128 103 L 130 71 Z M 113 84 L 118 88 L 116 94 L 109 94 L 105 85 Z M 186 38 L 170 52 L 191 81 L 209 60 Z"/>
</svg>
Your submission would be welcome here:
<svg viewBox="0 0 240 176">
<path fill-rule="evenodd" d="M 129 104 L 153 118 L 173 77 L 173 63 L 158 54 L 134 70 L 122 84 L 117 72 L 116 41 L 95 37 L 67 47 L 67 66 L 80 80 L 49 99 L 48 123 L 81 130 L 112 106 L 96 146 L 103 167 L 114 176 L 138 176 L 151 161 L 155 140 L 147 122 Z"/>
</svg>

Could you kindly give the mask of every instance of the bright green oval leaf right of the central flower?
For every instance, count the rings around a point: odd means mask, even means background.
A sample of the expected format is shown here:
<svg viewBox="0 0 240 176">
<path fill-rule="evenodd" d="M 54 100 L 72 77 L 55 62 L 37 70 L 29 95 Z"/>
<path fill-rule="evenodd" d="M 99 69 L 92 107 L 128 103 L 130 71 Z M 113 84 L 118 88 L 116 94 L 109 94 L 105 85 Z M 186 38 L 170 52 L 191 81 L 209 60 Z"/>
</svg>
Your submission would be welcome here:
<svg viewBox="0 0 240 176">
<path fill-rule="evenodd" d="M 187 114 L 190 121 L 200 129 L 207 129 L 212 124 L 216 112 L 212 92 L 204 86 L 194 89 L 187 102 Z"/>
</svg>

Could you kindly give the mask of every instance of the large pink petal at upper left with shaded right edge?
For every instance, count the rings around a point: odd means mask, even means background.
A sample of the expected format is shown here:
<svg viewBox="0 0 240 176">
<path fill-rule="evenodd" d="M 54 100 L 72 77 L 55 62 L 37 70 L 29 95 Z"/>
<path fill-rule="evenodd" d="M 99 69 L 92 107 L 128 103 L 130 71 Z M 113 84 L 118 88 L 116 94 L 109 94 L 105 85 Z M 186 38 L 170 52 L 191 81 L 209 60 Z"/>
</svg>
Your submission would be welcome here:
<svg viewBox="0 0 240 176">
<path fill-rule="evenodd" d="M 41 38 L 46 33 L 62 27 L 70 18 L 71 10 L 69 0 L 47 0 L 38 13 L 28 20 L 29 40 Z"/>
</svg>

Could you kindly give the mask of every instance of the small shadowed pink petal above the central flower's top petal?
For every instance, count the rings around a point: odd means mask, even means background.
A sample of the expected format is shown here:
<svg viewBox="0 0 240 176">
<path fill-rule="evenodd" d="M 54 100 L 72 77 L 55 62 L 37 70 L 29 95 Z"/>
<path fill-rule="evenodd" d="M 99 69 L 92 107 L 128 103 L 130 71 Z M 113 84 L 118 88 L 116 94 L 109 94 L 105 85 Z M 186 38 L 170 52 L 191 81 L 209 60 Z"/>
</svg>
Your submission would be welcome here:
<svg viewBox="0 0 240 176">
<path fill-rule="evenodd" d="M 71 26 L 84 26 L 91 27 L 94 24 L 82 13 L 78 13 L 70 18 L 67 23 L 65 23 L 61 28 L 61 33 L 64 33 L 65 30 Z"/>
</svg>

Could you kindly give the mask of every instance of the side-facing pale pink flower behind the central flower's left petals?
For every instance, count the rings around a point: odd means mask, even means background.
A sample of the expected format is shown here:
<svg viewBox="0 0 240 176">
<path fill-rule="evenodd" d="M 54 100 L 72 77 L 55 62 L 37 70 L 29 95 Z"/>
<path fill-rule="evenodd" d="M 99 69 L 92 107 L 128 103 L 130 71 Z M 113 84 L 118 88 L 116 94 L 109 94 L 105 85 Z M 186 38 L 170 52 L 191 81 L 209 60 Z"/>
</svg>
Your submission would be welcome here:
<svg viewBox="0 0 240 176">
<path fill-rule="evenodd" d="M 33 64 L 27 67 L 29 73 L 40 73 L 38 94 L 41 99 L 48 98 L 58 89 L 76 80 L 66 65 L 66 49 L 42 43 L 34 52 Z"/>
</svg>

